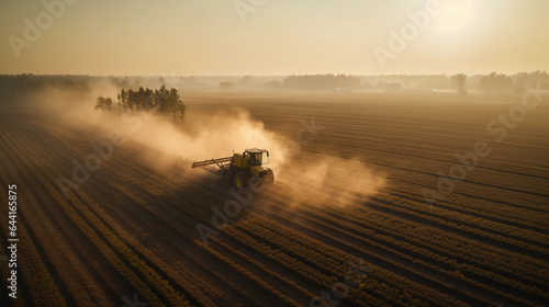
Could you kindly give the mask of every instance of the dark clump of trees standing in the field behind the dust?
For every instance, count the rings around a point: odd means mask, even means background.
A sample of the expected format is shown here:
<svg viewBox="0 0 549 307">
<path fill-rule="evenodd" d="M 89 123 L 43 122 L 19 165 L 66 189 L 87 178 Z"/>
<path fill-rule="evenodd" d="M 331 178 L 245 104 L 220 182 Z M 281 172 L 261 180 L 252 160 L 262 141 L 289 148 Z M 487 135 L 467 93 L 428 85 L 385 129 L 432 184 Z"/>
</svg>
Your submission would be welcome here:
<svg viewBox="0 0 549 307">
<path fill-rule="evenodd" d="M 160 115 L 171 115 L 173 118 L 173 124 L 177 123 L 179 117 L 181 122 L 184 120 L 186 105 L 181 101 L 179 92 L 176 88 L 167 89 L 165 84 L 160 89 L 144 89 L 139 87 L 137 91 L 132 89 L 122 89 L 117 94 L 117 106 L 119 110 L 124 113 L 127 112 L 156 112 Z M 96 110 L 111 111 L 112 106 L 111 98 L 99 96 L 96 100 Z"/>
</svg>

